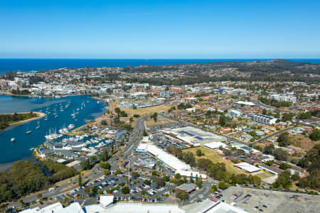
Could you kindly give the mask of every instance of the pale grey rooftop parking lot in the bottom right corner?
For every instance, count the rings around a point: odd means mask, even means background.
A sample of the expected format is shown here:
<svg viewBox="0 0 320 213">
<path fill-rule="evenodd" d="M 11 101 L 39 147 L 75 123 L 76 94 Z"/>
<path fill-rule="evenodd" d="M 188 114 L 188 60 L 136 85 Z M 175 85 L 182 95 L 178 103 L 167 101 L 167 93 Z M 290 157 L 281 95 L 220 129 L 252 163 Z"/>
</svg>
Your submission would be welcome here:
<svg viewBox="0 0 320 213">
<path fill-rule="evenodd" d="M 316 195 L 240 187 L 229 187 L 220 194 L 223 197 L 219 200 L 248 212 L 319 212 L 320 209 L 320 198 Z"/>
</svg>

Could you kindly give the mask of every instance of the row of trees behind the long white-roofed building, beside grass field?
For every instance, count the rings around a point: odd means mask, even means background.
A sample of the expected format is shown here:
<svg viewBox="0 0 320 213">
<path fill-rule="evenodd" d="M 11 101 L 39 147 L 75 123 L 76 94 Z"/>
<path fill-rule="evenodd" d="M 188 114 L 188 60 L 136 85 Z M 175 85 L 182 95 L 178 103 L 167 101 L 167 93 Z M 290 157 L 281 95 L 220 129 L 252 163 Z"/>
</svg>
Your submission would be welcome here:
<svg viewBox="0 0 320 213">
<path fill-rule="evenodd" d="M 176 155 L 177 158 L 185 161 L 189 165 L 195 167 L 197 166 L 199 170 L 206 171 L 210 178 L 215 178 L 216 180 L 221 180 L 224 182 L 229 182 L 230 184 L 256 184 L 260 185 L 261 179 L 257 176 L 252 175 L 235 175 L 227 171 L 224 163 L 213 163 L 211 160 L 206 158 L 200 158 L 196 160 L 193 153 L 186 152 L 183 153 L 181 148 L 176 148 L 174 146 L 169 146 L 166 151 Z"/>
</svg>

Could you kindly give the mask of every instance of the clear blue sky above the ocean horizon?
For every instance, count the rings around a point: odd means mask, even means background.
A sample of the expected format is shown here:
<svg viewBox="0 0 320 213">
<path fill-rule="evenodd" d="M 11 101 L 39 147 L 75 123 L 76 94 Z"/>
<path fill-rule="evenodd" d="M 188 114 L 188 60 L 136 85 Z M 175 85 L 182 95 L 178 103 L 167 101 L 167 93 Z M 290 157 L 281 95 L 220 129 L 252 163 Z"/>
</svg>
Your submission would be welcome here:
<svg viewBox="0 0 320 213">
<path fill-rule="evenodd" d="M 320 58 L 320 1 L 0 1 L 0 58 Z"/>
</svg>

